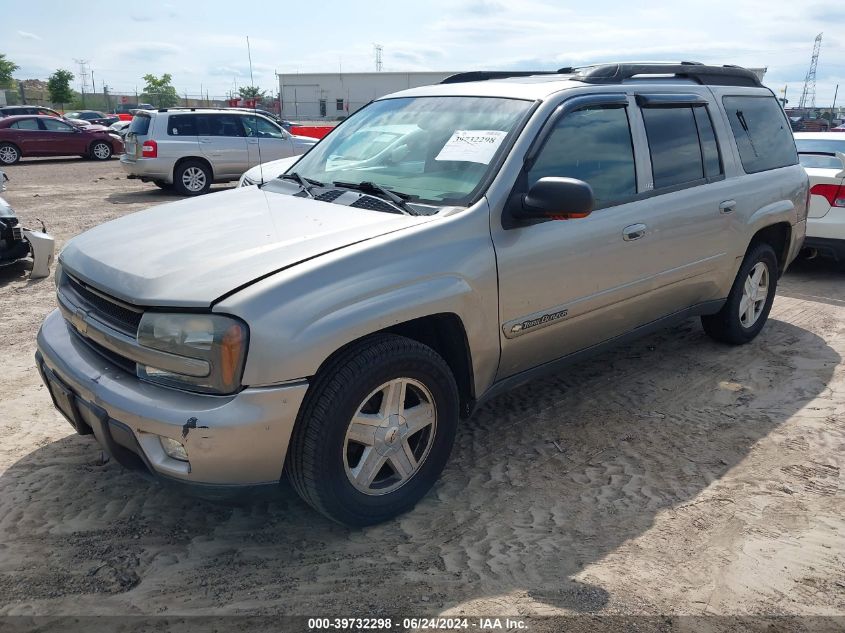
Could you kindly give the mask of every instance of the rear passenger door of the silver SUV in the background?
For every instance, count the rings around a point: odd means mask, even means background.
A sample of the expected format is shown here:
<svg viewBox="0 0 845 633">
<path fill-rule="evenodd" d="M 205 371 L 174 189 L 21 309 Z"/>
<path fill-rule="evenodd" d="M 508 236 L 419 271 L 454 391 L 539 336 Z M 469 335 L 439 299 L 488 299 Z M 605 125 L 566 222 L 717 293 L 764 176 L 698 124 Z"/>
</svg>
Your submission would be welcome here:
<svg viewBox="0 0 845 633">
<path fill-rule="evenodd" d="M 246 132 L 237 114 L 197 113 L 200 152 L 211 163 L 214 178 L 239 178 L 249 169 Z"/>
</svg>

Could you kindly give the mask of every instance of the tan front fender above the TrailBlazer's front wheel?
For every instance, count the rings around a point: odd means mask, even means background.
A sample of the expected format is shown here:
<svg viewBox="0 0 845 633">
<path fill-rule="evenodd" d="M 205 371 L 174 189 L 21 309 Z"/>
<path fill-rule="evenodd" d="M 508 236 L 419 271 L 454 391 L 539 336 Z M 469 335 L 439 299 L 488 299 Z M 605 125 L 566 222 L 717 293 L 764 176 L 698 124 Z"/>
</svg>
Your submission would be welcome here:
<svg viewBox="0 0 845 633">
<path fill-rule="evenodd" d="M 486 201 L 313 258 L 215 305 L 244 319 L 246 385 L 313 376 L 341 347 L 436 314 L 461 319 L 476 393 L 499 360 L 496 262 Z"/>
</svg>

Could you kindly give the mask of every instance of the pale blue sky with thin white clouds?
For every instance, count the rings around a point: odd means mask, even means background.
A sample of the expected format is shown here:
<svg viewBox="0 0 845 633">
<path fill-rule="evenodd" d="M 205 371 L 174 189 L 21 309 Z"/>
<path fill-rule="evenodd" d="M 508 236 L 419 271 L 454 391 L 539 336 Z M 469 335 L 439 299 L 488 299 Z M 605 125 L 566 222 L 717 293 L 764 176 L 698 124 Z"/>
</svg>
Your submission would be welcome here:
<svg viewBox="0 0 845 633">
<path fill-rule="evenodd" d="M 313 8 L 310 8 L 313 6 Z M 798 105 L 813 40 L 824 32 L 816 105 L 841 84 L 845 104 L 845 3 L 841 0 L 321 0 L 162 2 L 0 0 L 0 53 L 20 79 L 87 60 L 97 91 L 143 89 L 170 73 L 180 95 L 223 96 L 250 85 L 275 92 L 276 72 L 548 70 L 620 60 L 691 60 L 767 67 L 764 79 Z M 89 78 L 90 84 L 90 78 Z M 79 77 L 75 81 L 79 89 Z"/>
</svg>

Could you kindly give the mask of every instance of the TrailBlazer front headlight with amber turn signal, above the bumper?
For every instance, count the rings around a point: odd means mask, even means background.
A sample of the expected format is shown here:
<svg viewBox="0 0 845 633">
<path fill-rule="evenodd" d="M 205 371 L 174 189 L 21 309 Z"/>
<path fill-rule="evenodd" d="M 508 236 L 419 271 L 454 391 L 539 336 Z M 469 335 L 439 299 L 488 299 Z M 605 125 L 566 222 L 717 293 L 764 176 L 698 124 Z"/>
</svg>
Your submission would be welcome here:
<svg viewBox="0 0 845 633">
<path fill-rule="evenodd" d="M 145 312 L 138 344 L 186 359 L 185 373 L 137 365 L 139 378 L 204 393 L 233 393 L 241 383 L 249 330 L 222 314 Z M 200 363 L 197 363 L 200 361 Z"/>
</svg>

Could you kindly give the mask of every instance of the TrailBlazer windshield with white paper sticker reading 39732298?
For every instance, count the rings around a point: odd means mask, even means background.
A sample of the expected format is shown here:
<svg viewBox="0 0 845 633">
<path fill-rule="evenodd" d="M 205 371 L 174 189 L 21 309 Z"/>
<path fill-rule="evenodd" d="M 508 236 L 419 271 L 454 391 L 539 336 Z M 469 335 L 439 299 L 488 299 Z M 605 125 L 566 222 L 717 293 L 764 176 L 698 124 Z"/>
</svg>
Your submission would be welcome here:
<svg viewBox="0 0 845 633">
<path fill-rule="evenodd" d="M 530 107 L 491 97 L 376 101 L 292 171 L 326 184 L 375 183 L 415 202 L 467 204 Z"/>
</svg>

